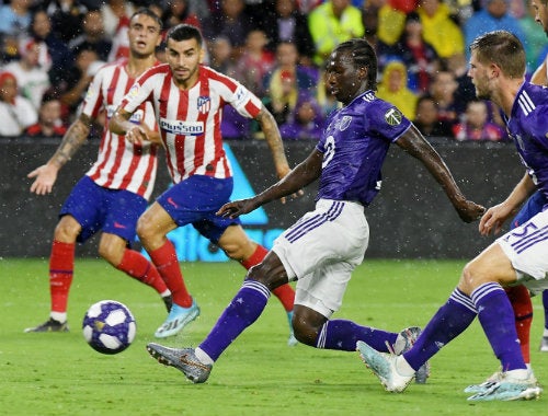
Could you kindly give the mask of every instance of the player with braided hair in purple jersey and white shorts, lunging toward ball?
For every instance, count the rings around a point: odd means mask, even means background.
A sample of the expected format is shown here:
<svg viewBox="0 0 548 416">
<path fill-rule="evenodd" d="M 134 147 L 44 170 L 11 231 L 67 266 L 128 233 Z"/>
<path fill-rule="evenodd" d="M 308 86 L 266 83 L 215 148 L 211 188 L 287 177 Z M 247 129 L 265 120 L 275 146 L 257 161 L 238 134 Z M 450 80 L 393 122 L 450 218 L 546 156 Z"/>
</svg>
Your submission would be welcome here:
<svg viewBox="0 0 548 416">
<path fill-rule="evenodd" d="M 328 120 L 310 155 L 261 194 L 224 205 L 218 215 L 237 218 L 320 180 L 316 209 L 306 213 L 251 268 L 242 287 L 193 348 L 149 344 L 160 363 L 181 370 L 194 383 L 209 377 L 222 351 L 262 313 L 270 291 L 297 280 L 293 325 L 306 345 L 354 351 L 357 340 L 401 353 L 416 338 L 416 327 L 391 334 L 345 320 L 331 320 L 342 304 L 352 270 L 362 263 L 369 240 L 365 208 L 379 192 L 380 167 L 391 143 L 419 159 L 439 183 L 460 218 L 470 222 L 484 208 L 465 198 L 437 152 L 393 105 L 375 96 L 377 58 L 365 39 L 340 44 L 326 71 L 330 92 L 343 104 Z"/>
</svg>

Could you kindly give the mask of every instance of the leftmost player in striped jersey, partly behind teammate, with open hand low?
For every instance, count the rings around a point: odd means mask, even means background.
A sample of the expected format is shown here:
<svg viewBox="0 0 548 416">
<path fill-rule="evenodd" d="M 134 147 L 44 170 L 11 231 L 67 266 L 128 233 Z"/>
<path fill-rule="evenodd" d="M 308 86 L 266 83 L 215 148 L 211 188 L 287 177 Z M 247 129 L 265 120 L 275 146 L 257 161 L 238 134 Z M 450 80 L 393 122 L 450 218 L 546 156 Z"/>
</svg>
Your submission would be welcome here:
<svg viewBox="0 0 548 416">
<path fill-rule="evenodd" d="M 137 11 L 128 30 L 129 58 L 107 65 L 93 78 L 79 118 L 72 123 L 59 148 L 45 164 L 28 174 L 35 177 L 31 192 L 52 192 L 58 171 L 83 145 L 92 122 L 101 112 L 107 117 L 119 104 L 135 79 L 157 65 L 156 47 L 161 42 L 161 21 L 148 9 Z M 140 106 L 130 120 L 150 136 L 158 136 L 153 108 Z M 50 317 L 25 332 L 66 332 L 67 303 L 75 267 L 75 244 L 102 231 L 99 254 L 117 269 L 152 287 L 171 309 L 171 292 L 156 267 L 130 250 L 139 216 L 147 208 L 157 169 L 155 143 L 130 143 L 105 126 L 93 166 L 72 188 L 60 211 L 49 258 Z"/>
</svg>

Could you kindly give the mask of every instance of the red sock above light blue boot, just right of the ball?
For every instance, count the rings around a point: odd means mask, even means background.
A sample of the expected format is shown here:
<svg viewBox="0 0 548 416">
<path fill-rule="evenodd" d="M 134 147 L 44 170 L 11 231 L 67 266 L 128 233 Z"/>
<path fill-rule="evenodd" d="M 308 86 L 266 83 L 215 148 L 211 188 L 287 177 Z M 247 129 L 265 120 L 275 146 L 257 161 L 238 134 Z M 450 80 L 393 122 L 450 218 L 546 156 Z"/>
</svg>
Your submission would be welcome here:
<svg viewBox="0 0 548 416">
<path fill-rule="evenodd" d="M 165 243 L 161 247 L 149 254 L 158 273 L 171 290 L 173 303 L 176 303 L 182 308 L 190 308 L 192 305 L 192 297 L 184 285 L 183 274 L 181 273 L 181 268 L 179 266 L 175 247 L 171 241 L 165 240 Z"/>
</svg>

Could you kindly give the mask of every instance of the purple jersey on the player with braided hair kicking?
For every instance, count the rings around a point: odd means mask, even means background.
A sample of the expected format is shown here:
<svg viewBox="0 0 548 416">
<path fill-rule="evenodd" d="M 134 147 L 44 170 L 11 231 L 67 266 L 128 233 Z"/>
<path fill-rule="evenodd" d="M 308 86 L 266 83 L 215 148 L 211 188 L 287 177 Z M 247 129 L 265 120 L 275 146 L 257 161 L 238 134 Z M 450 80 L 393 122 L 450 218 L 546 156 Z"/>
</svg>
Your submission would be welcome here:
<svg viewBox="0 0 548 416">
<path fill-rule="evenodd" d="M 398 108 L 373 91 L 333 112 L 317 146 L 323 153 L 317 199 L 369 205 L 380 190 L 380 169 L 390 143 L 410 126 Z"/>
</svg>

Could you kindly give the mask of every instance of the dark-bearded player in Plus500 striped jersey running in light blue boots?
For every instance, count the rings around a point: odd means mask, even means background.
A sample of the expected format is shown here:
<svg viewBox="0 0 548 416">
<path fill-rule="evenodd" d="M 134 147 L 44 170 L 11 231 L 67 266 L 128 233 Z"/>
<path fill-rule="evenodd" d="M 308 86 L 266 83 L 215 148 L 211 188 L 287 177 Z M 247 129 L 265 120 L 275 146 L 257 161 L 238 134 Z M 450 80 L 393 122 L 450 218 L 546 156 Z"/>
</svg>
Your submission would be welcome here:
<svg viewBox="0 0 548 416">
<path fill-rule="evenodd" d="M 238 81 L 202 65 L 202 35 L 192 25 L 181 24 L 167 36 L 168 63 L 146 71 L 132 86 L 111 119 L 110 128 L 130 142 L 155 138 L 130 117 L 144 104 L 155 106 L 167 163 L 174 186 L 165 190 L 140 217 L 137 233 L 173 296 L 173 308 L 156 336 L 168 337 L 196 319 L 199 308 L 184 285 L 168 232 L 192 223 L 246 268 L 260 263 L 266 250 L 251 241 L 238 220 L 217 217 L 217 210 L 232 192 L 232 172 L 225 151 L 220 122 L 227 104 L 259 122 L 274 158 L 277 175 L 289 165 L 272 114 Z M 295 292 L 284 285 L 274 292 L 293 314 Z M 289 344 L 296 344 L 289 338 Z"/>
</svg>

